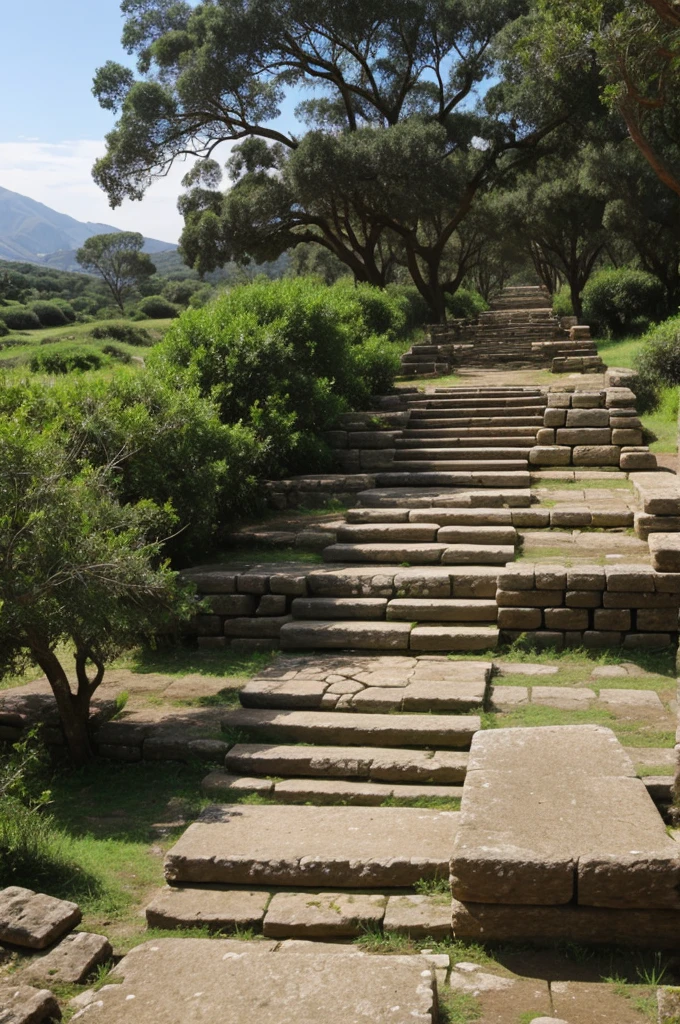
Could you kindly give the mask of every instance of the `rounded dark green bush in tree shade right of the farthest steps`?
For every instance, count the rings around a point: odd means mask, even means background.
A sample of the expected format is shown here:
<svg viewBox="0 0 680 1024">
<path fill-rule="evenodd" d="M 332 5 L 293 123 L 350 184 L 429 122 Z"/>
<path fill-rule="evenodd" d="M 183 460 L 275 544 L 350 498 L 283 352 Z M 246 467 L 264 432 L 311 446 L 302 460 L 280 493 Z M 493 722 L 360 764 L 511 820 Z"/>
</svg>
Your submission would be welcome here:
<svg viewBox="0 0 680 1024">
<path fill-rule="evenodd" d="M 664 287 L 644 270 L 599 270 L 583 290 L 584 321 L 600 337 L 642 334 L 663 309 Z"/>
</svg>

